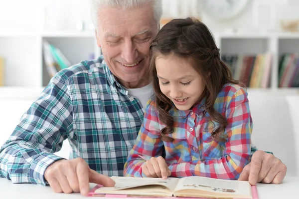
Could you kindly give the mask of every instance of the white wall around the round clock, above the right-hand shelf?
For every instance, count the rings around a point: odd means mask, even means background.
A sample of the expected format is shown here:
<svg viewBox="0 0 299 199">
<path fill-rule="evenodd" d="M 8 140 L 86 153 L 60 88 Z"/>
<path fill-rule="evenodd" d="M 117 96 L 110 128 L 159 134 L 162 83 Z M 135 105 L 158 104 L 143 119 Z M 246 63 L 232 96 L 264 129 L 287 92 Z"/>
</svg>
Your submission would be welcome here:
<svg viewBox="0 0 299 199">
<path fill-rule="evenodd" d="M 280 30 L 280 19 L 298 19 L 299 18 L 299 1 L 298 0 L 249 0 L 247 7 L 237 17 L 230 20 L 215 20 L 209 16 L 202 8 L 203 0 L 196 0 L 197 7 L 193 6 L 193 0 L 162 0 L 164 15 L 167 17 L 185 17 L 187 15 L 199 16 L 208 25 L 212 31 L 223 31 L 227 29 L 237 29 L 239 31 L 263 31 L 263 28 L 256 27 L 257 22 L 261 22 L 263 19 L 258 18 L 256 20 L 258 4 L 264 4 L 260 7 L 259 16 L 270 16 L 270 20 L 276 24 L 274 28 Z M 214 0 L 217 2 L 217 0 Z M 221 1 L 221 0 L 219 0 Z M 186 3 L 189 2 L 189 3 Z M 269 5 L 267 5 L 269 4 Z M 189 5 L 189 7 L 187 7 Z M 265 9 L 264 9 L 265 8 Z M 273 8 L 274 13 L 270 13 L 270 9 Z M 265 23 L 265 22 L 264 22 Z"/>
</svg>

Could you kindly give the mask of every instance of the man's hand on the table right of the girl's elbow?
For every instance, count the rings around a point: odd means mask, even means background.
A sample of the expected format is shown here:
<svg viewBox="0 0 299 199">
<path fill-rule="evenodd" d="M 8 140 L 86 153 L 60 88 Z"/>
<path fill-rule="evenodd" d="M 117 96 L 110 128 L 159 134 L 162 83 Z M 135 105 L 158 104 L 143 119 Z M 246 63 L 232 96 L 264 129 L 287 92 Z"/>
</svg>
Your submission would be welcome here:
<svg viewBox="0 0 299 199">
<path fill-rule="evenodd" d="M 244 167 L 238 180 L 257 183 L 281 184 L 286 176 L 287 167 L 280 159 L 264 151 L 256 151 L 251 162 Z"/>
</svg>

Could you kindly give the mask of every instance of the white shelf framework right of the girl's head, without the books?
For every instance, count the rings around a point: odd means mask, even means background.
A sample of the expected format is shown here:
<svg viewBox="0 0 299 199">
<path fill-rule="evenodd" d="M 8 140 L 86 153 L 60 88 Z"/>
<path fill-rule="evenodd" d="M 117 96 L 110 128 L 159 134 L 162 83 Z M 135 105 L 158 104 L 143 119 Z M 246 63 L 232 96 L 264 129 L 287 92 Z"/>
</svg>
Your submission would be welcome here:
<svg viewBox="0 0 299 199">
<path fill-rule="evenodd" d="M 280 92 L 298 94 L 299 88 L 278 86 L 279 59 L 283 53 L 299 53 L 297 33 L 214 33 L 221 54 L 258 54 L 270 52 L 273 55 L 270 87 L 249 88 L 250 91 Z"/>
</svg>

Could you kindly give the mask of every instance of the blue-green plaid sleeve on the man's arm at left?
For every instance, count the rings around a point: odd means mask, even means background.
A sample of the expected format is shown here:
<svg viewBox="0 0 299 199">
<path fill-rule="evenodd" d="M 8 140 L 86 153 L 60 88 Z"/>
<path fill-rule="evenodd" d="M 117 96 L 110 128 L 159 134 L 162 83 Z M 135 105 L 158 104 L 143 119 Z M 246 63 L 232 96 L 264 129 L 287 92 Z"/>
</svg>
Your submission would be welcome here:
<svg viewBox="0 0 299 199">
<path fill-rule="evenodd" d="M 0 177 L 12 183 L 46 185 L 44 172 L 62 159 L 59 151 L 72 130 L 72 106 L 67 87 L 57 73 L 23 114 L 0 148 Z"/>
</svg>

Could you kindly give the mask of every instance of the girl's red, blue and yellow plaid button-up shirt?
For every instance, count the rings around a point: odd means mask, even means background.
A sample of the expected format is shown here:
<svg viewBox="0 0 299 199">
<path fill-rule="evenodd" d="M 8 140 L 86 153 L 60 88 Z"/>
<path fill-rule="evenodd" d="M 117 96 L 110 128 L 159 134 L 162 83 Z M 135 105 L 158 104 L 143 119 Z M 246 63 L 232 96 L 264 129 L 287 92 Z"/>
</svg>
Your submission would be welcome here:
<svg viewBox="0 0 299 199">
<path fill-rule="evenodd" d="M 224 131 L 227 141 L 212 138 L 219 124 L 204 113 L 204 103 L 192 110 L 180 111 L 173 106 L 173 142 L 161 140 L 165 125 L 159 120 L 154 100 L 149 100 L 144 123 L 125 165 L 124 175 L 145 177 L 142 166 L 151 157 L 161 156 L 172 177 L 204 176 L 219 179 L 238 179 L 249 163 L 251 152 L 252 118 L 247 92 L 238 85 L 226 84 L 218 94 L 214 109 L 228 121 Z"/>
</svg>

